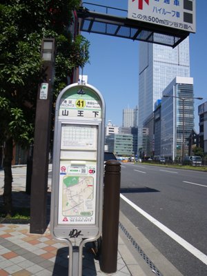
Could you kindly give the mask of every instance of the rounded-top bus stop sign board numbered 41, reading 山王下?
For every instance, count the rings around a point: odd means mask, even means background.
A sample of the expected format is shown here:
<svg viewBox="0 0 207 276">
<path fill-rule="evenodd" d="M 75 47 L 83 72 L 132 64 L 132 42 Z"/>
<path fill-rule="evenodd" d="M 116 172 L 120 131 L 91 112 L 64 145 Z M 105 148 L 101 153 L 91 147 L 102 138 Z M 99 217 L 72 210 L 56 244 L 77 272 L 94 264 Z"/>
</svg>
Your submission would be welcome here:
<svg viewBox="0 0 207 276">
<path fill-rule="evenodd" d="M 57 239 L 101 235 L 105 103 L 88 84 L 64 88 L 56 104 L 50 232 Z"/>
</svg>

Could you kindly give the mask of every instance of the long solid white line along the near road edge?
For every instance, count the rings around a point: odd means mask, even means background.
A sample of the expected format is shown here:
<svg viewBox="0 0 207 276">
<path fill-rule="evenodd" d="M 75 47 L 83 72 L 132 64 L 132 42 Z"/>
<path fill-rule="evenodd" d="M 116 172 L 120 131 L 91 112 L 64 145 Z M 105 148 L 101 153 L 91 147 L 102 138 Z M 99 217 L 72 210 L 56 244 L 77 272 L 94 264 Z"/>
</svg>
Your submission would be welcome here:
<svg viewBox="0 0 207 276">
<path fill-rule="evenodd" d="M 124 199 L 124 201 L 126 201 L 132 208 L 137 210 L 137 212 L 139 212 L 141 215 L 146 217 L 146 219 L 148 219 L 150 222 L 152 222 L 152 224 L 155 224 L 155 226 L 157 226 L 160 230 L 162 230 L 164 233 L 166 233 L 166 235 L 168 235 L 169 237 L 174 239 L 175 242 L 177 242 L 178 244 L 183 246 L 186 250 L 188 250 L 188 252 L 193 254 L 195 257 L 197 257 L 197 259 L 199 259 L 201 262 L 203 262 L 204 264 L 207 265 L 207 256 L 204 253 L 202 253 L 200 250 L 195 248 L 192 244 L 189 244 L 188 242 L 186 242 L 185 239 L 179 237 L 179 235 L 177 235 L 175 232 L 170 230 L 168 227 L 164 226 L 164 224 L 161 224 L 161 222 L 159 222 L 157 219 L 155 219 L 154 217 L 152 217 L 151 215 L 146 213 L 144 210 L 139 208 L 128 198 L 124 197 L 124 195 L 120 194 L 120 197 L 121 197 L 121 199 Z"/>
</svg>

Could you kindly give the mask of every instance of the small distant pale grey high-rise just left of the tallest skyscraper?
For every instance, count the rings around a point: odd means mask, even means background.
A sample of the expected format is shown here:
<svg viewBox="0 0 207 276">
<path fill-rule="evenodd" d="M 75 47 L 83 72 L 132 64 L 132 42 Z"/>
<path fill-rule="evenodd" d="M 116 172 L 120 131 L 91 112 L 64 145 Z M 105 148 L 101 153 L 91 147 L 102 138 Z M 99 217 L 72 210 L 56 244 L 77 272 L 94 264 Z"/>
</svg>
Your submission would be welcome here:
<svg viewBox="0 0 207 276">
<path fill-rule="evenodd" d="M 124 128 L 137 128 L 138 124 L 138 108 L 125 108 L 123 110 L 122 126 Z"/>
</svg>

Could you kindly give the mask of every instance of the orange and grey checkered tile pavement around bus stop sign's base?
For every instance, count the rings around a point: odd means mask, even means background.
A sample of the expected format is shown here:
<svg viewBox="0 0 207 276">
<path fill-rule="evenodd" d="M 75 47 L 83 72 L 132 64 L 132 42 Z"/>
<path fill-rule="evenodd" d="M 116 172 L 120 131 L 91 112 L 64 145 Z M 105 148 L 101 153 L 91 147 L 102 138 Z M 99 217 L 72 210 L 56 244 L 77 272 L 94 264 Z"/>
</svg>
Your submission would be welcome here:
<svg viewBox="0 0 207 276">
<path fill-rule="evenodd" d="M 90 243 L 83 248 L 83 275 L 106 275 L 91 248 Z M 48 229 L 34 235 L 26 224 L 0 224 L 0 275 L 68 276 L 68 246 L 52 239 Z M 130 275 L 119 254 L 113 275 Z"/>
</svg>

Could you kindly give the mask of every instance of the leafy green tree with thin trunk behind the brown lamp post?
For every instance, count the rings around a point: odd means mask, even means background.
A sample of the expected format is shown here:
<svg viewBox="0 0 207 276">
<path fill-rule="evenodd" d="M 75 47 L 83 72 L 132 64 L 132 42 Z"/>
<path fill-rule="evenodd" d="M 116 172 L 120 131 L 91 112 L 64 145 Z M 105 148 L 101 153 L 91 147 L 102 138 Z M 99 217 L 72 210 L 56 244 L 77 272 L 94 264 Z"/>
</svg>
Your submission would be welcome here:
<svg viewBox="0 0 207 276">
<path fill-rule="evenodd" d="M 4 148 L 6 213 L 12 213 L 12 148 L 28 147 L 34 136 L 37 88 L 41 83 L 41 39 L 56 41 L 54 101 L 72 70 L 88 61 L 89 43 L 70 33 L 79 0 L 1 0 L 0 144 Z M 83 55 L 84 49 L 84 55 Z"/>
</svg>

